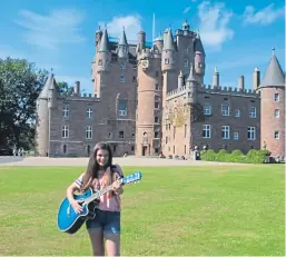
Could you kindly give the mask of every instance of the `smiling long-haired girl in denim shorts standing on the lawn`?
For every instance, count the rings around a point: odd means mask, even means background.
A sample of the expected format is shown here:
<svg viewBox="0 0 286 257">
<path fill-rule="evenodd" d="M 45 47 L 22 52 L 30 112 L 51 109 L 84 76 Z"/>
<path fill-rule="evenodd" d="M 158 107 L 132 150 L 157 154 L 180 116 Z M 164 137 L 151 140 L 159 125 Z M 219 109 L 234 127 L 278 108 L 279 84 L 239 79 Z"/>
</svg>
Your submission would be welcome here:
<svg viewBox="0 0 286 257">
<path fill-rule="evenodd" d="M 106 142 L 95 146 L 85 171 L 67 189 L 67 197 L 75 211 L 80 212 L 82 207 L 75 200 L 76 190 L 91 187 L 93 190 L 102 189 L 115 181 L 114 190 L 100 197 L 96 209 L 96 217 L 86 221 L 90 236 L 93 256 L 105 256 L 105 244 L 108 256 L 120 256 L 120 195 L 124 192 L 118 178 L 124 177 L 121 168 L 112 165 L 112 152 Z"/>
</svg>

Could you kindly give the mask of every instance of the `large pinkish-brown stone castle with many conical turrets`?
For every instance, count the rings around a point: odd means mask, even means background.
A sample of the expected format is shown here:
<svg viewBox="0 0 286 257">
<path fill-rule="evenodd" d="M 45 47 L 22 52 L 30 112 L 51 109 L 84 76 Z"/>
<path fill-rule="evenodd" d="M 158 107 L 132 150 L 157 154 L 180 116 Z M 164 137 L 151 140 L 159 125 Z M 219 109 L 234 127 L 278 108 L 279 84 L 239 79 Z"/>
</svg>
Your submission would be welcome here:
<svg viewBox="0 0 286 257">
<path fill-rule="evenodd" d="M 179 156 L 195 149 L 263 147 L 285 156 L 285 73 L 275 52 L 253 89 L 221 87 L 215 68 L 211 86 L 204 83 L 206 53 L 198 32 L 187 22 L 172 34 L 128 43 L 107 29 L 96 31 L 91 63 L 93 93 L 81 95 L 76 81 L 71 97 L 60 97 L 51 73 L 37 100 L 38 156 L 89 156 L 98 141 L 110 144 L 115 156 Z"/>
</svg>

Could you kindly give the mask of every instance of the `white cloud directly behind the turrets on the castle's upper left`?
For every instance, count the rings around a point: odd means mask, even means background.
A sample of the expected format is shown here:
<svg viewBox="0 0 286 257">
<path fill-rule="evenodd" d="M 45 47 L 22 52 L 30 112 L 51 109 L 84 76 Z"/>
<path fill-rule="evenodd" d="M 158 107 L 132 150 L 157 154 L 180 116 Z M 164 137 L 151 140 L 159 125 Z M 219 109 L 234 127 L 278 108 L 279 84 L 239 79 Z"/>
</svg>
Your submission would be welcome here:
<svg viewBox="0 0 286 257">
<path fill-rule="evenodd" d="M 105 22 L 100 21 L 99 24 L 105 27 Z M 126 17 L 114 17 L 111 21 L 106 24 L 108 36 L 120 38 L 122 29 L 125 28 L 127 41 L 137 41 L 137 33 L 141 29 L 141 17 L 138 14 Z"/>
</svg>

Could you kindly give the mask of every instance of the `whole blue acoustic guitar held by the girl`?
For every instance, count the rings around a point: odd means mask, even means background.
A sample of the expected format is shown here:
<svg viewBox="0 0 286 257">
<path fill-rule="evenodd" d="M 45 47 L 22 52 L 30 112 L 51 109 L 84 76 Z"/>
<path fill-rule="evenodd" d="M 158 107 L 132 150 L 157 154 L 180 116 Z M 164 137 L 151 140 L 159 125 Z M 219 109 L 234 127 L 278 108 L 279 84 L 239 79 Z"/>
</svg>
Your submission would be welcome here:
<svg viewBox="0 0 286 257">
<path fill-rule="evenodd" d="M 128 175 L 125 178 L 120 178 L 119 185 L 139 182 L 141 180 L 141 172 L 137 171 L 135 174 Z M 91 188 L 88 188 L 80 195 L 73 195 L 76 200 L 83 200 L 83 202 L 81 202 L 81 206 L 83 208 L 80 214 L 77 214 L 73 210 L 68 198 L 66 197 L 62 200 L 60 208 L 58 210 L 58 228 L 61 231 L 68 234 L 77 233 L 87 219 L 92 219 L 96 217 L 96 208 L 99 205 L 100 196 L 112 190 L 112 188 L 114 185 L 111 184 L 110 186 L 96 192 L 93 192 Z"/>
</svg>

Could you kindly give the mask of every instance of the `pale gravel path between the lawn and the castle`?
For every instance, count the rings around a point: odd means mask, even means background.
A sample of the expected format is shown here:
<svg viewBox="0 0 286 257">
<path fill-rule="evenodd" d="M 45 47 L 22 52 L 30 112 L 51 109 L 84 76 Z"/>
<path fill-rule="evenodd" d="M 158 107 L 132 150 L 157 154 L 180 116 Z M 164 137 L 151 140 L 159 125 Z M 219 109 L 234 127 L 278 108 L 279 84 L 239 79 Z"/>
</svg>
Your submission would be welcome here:
<svg viewBox="0 0 286 257">
<path fill-rule="evenodd" d="M 0 166 L 87 166 L 88 158 L 47 158 L 47 157 L 0 157 Z M 229 162 L 170 160 L 159 158 L 114 158 L 114 164 L 120 166 L 201 166 L 201 165 L 241 165 Z"/>
</svg>

